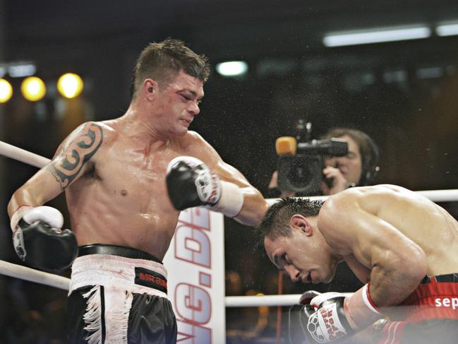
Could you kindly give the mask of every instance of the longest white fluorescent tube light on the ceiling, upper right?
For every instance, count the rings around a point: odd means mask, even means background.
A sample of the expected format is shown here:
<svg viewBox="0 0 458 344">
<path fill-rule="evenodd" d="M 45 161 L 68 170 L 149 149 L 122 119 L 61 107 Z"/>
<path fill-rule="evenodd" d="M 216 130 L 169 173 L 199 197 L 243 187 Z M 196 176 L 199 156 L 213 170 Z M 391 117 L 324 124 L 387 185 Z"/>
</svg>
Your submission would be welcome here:
<svg viewBox="0 0 458 344">
<path fill-rule="evenodd" d="M 366 45 L 370 43 L 395 42 L 402 40 L 418 40 L 430 37 L 431 30 L 426 26 L 397 27 L 373 29 L 365 31 L 335 32 L 325 35 L 323 43 L 326 47 L 342 47 L 345 45 Z"/>
</svg>

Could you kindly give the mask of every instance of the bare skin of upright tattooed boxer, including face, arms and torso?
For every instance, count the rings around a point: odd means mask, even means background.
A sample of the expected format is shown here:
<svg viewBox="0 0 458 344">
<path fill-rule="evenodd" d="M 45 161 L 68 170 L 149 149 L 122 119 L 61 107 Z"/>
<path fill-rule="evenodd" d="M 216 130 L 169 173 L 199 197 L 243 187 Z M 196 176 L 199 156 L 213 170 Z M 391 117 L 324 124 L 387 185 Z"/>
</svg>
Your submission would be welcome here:
<svg viewBox="0 0 458 344">
<path fill-rule="evenodd" d="M 66 191 L 78 245 L 133 247 L 162 260 L 179 217 L 167 194 L 167 165 L 191 155 L 241 187 L 244 203 L 235 219 L 256 225 L 267 209 L 259 191 L 199 134 L 188 131 L 202 97 L 203 83 L 182 71 L 167 88 L 146 79 L 123 117 L 73 131 L 52 162 L 13 194 L 9 215 Z"/>
</svg>

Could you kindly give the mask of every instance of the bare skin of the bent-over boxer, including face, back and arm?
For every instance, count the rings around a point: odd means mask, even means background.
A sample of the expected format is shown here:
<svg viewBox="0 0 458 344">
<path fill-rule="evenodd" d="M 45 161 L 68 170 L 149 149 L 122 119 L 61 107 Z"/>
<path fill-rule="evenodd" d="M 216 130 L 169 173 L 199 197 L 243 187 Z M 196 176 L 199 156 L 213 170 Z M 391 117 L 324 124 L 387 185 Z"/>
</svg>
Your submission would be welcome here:
<svg viewBox="0 0 458 344">
<path fill-rule="evenodd" d="M 363 283 L 370 281 L 378 307 L 404 301 L 426 274 L 458 271 L 457 221 L 400 186 L 342 191 L 325 201 L 318 216 L 294 215 L 291 227 L 291 239 L 265 238 L 267 254 L 279 268 L 293 280 L 327 283 L 337 263 L 346 261 Z"/>
</svg>

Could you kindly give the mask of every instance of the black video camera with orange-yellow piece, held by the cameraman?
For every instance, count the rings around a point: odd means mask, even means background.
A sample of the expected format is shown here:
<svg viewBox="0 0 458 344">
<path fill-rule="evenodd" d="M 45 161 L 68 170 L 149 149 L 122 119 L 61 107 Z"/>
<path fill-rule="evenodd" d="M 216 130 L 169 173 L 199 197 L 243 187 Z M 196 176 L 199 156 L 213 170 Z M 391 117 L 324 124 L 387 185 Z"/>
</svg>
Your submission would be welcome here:
<svg viewBox="0 0 458 344">
<path fill-rule="evenodd" d="M 332 179 L 323 176 L 323 159 L 346 155 L 348 144 L 340 138 L 309 141 L 310 132 L 311 124 L 300 119 L 296 124 L 296 137 L 277 138 L 278 189 L 313 196 L 321 193 L 322 181 L 332 187 Z"/>
</svg>

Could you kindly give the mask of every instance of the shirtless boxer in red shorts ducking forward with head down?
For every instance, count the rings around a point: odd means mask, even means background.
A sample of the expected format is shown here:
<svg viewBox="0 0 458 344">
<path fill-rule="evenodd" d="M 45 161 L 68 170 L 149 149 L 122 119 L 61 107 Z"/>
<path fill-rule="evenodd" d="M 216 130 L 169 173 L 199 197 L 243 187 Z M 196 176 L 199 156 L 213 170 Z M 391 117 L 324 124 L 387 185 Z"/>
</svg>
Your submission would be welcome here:
<svg viewBox="0 0 458 344">
<path fill-rule="evenodd" d="M 348 189 L 324 203 L 284 198 L 258 231 L 293 281 L 329 283 L 346 261 L 366 283 L 351 296 L 306 292 L 290 314 L 302 340 L 346 338 L 390 316 L 390 343 L 456 343 L 458 223 L 427 198 L 394 185 Z"/>
</svg>

